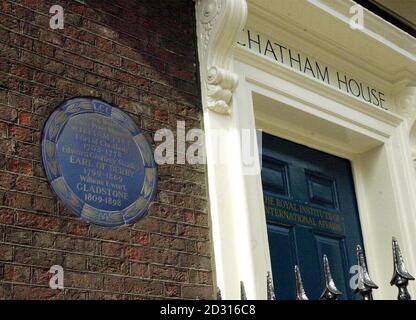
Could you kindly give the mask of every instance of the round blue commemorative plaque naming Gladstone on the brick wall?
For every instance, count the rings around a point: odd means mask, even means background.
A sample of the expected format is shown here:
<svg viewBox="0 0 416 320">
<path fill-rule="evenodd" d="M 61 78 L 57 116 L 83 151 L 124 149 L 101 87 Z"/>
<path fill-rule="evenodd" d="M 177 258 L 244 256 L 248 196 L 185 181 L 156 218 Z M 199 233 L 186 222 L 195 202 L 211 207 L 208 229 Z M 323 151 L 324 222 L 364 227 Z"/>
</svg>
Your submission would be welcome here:
<svg viewBox="0 0 416 320">
<path fill-rule="evenodd" d="M 61 103 L 42 132 L 52 189 L 82 219 L 103 227 L 131 224 L 156 193 L 152 149 L 120 109 L 88 97 Z"/>
</svg>

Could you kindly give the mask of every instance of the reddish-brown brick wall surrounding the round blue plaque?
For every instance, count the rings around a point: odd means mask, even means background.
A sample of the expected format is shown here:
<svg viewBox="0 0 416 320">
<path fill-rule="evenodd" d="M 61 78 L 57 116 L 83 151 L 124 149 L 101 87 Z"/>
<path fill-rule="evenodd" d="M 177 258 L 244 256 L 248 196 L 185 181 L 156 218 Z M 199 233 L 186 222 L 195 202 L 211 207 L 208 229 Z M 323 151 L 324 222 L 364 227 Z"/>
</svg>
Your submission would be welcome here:
<svg viewBox="0 0 416 320">
<path fill-rule="evenodd" d="M 86 3 L 86 4 L 83 4 Z M 65 10 L 63 30 L 49 8 Z M 145 131 L 201 125 L 191 0 L 0 2 L 0 299 L 211 298 L 205 168 L 159 167 L 148 215 L 87 224 L 53 195 L 40 158 L 54 106 L 92 95 Z M 49 288 L 62 265 L 65 290 Z"/>
</svg>

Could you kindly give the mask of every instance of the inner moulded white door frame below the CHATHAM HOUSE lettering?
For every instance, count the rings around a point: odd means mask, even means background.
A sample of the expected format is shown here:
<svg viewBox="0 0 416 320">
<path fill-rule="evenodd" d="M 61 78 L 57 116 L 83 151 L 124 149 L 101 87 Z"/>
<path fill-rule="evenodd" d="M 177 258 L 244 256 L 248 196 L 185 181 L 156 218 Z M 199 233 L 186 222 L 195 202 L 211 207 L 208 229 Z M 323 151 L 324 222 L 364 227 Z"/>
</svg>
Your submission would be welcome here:
<svg viewBox="0 0 416 320">
<path fill-rule="evenodd" d="M 416 270 L 411 245 L 412 234 L 416 234 L 416 198 L 412 196 L 416 194 L 416 185 L 404 119 L 348 96 L 337 94 L 328 97 L 327 88 L 316 86 L 309 79 L 299 79 L 293 73 L 288 73 L 290 79 L 285 79 L 279 67 L 262 65 L 257 57 L 251 57 L 250 61 L 244 56 L 243 63 L 239 59 L 243 55 L 244 52 L 237 50 L 234 60 L 234 70 L 240 83 L 235 92 L 238 105 L 231 117 L 233 129 L 254 130 L 259 121 L 264 124 L 267 119 L 270 122 L 278 115 L 276 110 L 270 109 L 267 117 L 259 117 L 253 96 L 261 95 L 272 99 L 277 105 L 283 103 L 320 118 L 322 123 L 336 124 L 348 132 L 378 143 L 378 146 L 364 152 L 359 150 L 355 154 L 296 132 L 293 134 L 288 130 L 290 123 L 286 123 L 287 127 L 274 123 L 266 128 L 267 132 L 281 138 L 351 161 L 368 267 L 380 287 L 374 296 L 395 299 L 397 292 L 389 285 L 392 275 L 391 236 L 399 239 L 408 268 Z M 238 146 L 235 150 L 238 150 Z M 228 157 L 237 167 L 241 163 L 241 153 L 229 153 Z M 222 283 L 219 282 L 220 288 L 226 298 L 237 298 L 239 290 L 235 284 L 243 280 L 248 298 L 265 299 L 265 278 L 267 272 L 271 271 L 271 265 L 260 172 L 242 175 L 240 167 L 232 171 L 228 179 L 239 184 L 227 199 L 229 204 L 238 202 L 239 210 L 229 212 L 231 220 L 226 224 L 229 237 L 224 232 L 215 236 L 213 224 L 215 256 L 227 250 L 234 252 L 233 261 L 228 260 L 227 266 L 220 266 L 217 261 L 217 278 L 223 279 Z M 210 198 L 213 197 L 216 195 L 211 194 Z M 381 223 L 378 221 L 380 215 L 384 220 Z M 219 223 L 224 221 L 221 216 L 217 218 Z M 219 242 L 219 239 L 224 238 L 228 238 L 228 243 Z M 412 286 L 409 286 L 409 290 L 415 293 Z"/>
</svg>

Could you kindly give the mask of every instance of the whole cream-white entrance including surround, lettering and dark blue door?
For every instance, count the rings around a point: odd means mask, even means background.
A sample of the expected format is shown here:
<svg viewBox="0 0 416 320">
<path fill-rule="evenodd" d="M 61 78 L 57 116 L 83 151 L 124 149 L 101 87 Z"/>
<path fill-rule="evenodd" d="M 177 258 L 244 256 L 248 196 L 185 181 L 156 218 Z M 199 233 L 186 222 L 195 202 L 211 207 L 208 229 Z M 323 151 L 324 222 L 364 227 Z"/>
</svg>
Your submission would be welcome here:
<svg viewBox="0 0 416 320">
<path fill-rule="evenodd" d="M 244 281 L 265 299 L 272 271 L 277 297 L 293 299 L 298 264 L 317 299 L 326 254 L 352 299 L 359 244 L 375 297 L 394 299 L 393 236 L 416 269 L 415 39 L 349 0 L 197 3 L 204 126 L 229 133 L 221 148 L 206 139 L 224 296 Z M 261 161 L 247 162 L 234 134 L 247 129 L 263 131 Z"/>
</svg>

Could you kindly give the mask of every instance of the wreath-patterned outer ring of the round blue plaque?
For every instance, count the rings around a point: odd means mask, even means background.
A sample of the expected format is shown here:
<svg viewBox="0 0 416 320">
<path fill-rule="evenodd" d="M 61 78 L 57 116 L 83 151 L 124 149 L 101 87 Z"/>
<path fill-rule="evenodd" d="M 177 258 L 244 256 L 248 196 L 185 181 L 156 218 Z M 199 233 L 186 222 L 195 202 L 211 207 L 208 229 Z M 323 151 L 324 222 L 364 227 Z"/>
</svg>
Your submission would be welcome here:
<svg viewBox="0 0 416 320">
<path fill-rule="evenodd" d="M 67 121 L 79 114 L 98 113 L 117 122 L 132 135 L 144 164 L 143 185 L 138 197 L 120 211 L 95 208 L 80 199 L 65 181 L 57 161 L 56 144 Z M 47 119 L 41 140 L 42 163 L 52 190 L 81 219 L 102 227 L 129 225 L 143 218 L 157 191 L 157 165 L 152 148 L 134 121 L 121 109 L 96 97 L 74 97 L 61 102 Z"/>
</svg>

